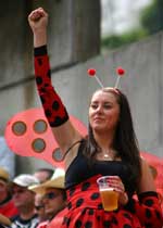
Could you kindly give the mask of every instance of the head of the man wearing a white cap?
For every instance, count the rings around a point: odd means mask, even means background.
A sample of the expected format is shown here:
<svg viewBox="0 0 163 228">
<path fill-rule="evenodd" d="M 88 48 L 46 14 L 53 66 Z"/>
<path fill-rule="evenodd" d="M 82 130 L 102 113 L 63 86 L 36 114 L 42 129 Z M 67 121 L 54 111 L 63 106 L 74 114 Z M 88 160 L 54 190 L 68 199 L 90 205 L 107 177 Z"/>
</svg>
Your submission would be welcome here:
<svg viewBox="0 0 163 228">
<path fill-rule="evenodd" d="M 33 175 L 22 174 L 12 181 L 13 201 L 18 211 L 35 212 L 35 193 L 28 187 L 38 185 L 39 180 Z"/>
</svg>

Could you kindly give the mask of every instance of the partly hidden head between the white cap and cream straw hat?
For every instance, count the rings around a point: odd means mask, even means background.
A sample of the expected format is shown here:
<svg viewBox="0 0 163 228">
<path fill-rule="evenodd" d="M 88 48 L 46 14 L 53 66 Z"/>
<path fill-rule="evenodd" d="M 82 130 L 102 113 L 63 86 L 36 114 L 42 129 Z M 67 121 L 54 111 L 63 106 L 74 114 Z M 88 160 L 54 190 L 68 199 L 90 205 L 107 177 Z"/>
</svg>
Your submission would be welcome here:
<svg viewBox="0 0 163 228">
<path fill-rule="evenodd" d="M 53 173 L 54 170 L 51 168 L 38 168 L 34 173 L 34 176 L 37 177 L 39 179 L 39 182 L 41 183 L 49 180 L 52 177 Z"/>
</svg>

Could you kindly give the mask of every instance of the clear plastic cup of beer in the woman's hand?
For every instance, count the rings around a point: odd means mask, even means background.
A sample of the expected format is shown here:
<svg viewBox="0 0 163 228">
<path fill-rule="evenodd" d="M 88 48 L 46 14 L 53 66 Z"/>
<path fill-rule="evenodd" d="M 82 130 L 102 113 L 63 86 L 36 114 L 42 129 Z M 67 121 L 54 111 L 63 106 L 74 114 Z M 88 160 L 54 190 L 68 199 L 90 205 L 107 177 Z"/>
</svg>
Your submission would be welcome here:
<svg viewBox="0 0 163 228">
<path fill-rule="evenodd" d="M 110 187 L 109 178 L 110 176 L 100 177 L 97 179 L 97 183 L 99 186 L 103 208 L 104 211 L 111 212 L 117 208 L 118 193 Z"/>
</svg>

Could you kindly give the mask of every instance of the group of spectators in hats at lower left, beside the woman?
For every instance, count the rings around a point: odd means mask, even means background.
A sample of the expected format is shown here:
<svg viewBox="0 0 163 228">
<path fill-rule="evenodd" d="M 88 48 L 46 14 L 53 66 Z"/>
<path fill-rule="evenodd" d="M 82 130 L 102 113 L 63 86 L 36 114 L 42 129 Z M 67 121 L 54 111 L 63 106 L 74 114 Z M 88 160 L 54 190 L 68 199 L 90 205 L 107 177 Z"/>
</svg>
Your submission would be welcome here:
<svg viewBox="0 0 163 228">
<path fill-rule="evenodd" d="M 60 227 L 65 207 L 63 169 L 39 168 L 10 178 L 0 167 L 0 228 Z"/>
</svg>

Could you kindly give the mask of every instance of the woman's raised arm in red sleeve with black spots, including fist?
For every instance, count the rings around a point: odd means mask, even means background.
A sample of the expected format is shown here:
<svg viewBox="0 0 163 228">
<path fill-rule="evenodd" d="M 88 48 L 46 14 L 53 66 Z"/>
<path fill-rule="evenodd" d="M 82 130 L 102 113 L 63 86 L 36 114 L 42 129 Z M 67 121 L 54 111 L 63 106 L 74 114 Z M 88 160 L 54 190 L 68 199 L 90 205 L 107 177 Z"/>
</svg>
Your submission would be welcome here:
<svg viewBox="0 0 163 228">
<path fill-rule="evenodd" d="M 34 10 L 28 22 L 34 34 L 35 76 L 38 93 L 47 119 L 62 152 L 82 136 L 70 122 L 68 114 L 51 83 L 50 63 L 47 52 L 48 14 L 42 8 Z"/>
</svg>

